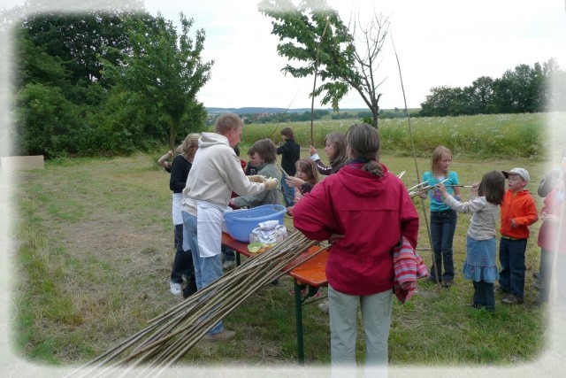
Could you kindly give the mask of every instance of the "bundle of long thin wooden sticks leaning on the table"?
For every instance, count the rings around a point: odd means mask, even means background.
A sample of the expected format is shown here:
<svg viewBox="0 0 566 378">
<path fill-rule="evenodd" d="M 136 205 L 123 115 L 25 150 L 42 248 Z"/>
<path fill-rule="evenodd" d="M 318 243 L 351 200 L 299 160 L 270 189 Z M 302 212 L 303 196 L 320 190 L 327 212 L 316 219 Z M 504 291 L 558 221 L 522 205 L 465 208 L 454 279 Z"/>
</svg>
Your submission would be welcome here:
<svg viewBox="0 0 566 378">
<path fill-rule="evenodd" d="M 163 374 L 219 320 L 223 320 L 257 290 L 325 251 L 324 247 L 308 258 L 294 261 L 316 243 L 300 232 L 294 232 L 286 240 L 253 255 L 216 282 L 198 290 L 180 305 L 149 320 L 147 328 L 81 366 L 71 375 L 126 375 L 133 373 L 136 367 L 143 367 L 137 376 L 155 377 Z M 126 371 L 122 371 L 124 367 Z"/>
</svg>

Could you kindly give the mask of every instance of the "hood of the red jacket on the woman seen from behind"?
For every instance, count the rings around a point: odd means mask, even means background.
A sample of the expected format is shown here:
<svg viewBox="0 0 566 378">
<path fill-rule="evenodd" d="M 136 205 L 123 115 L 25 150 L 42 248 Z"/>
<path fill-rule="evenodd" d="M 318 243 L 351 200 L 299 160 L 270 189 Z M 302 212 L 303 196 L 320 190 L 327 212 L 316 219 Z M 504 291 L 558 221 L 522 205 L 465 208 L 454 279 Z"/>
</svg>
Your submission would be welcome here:
<svg viewBox="0 0 566 378">
<path fill-rule="evenodd" d="M 384 178 L 389 174 L 386 166 L 381 164 L 383 176 L 379 177 L 362 170 L 363 164 L 348 164 L 336 174 L 336 180 L 340 180 L 344 189 L 356 197 L 373 197 L 386 189 Z"/>
</svg>

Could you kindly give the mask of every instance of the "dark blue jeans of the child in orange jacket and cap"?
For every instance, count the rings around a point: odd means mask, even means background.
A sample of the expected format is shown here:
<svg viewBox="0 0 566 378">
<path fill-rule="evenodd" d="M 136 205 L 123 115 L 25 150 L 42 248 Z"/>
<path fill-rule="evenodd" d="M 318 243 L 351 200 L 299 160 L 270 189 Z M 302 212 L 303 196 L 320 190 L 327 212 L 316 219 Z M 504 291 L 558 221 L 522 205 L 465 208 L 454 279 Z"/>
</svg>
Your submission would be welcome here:
<svg viewBox="0 0 566 378">
<path fill-rule="evenodd" d="M 516 297 L 524 296 L 524 252 L 527 239 L 511 240 L 501 237 L 499 242 L 499 262 L 501 272 L 499 285 L 503 291 L 509 291 Z"/>
</svg>

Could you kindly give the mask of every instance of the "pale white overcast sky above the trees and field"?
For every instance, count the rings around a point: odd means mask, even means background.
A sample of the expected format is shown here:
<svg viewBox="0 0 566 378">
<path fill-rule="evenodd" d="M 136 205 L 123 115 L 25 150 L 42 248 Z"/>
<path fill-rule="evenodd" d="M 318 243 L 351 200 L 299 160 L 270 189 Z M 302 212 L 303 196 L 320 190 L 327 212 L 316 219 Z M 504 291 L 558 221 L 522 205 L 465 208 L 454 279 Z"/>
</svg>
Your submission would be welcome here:
<svg viewBox="0 0 566 378">
<path fill-rule="evenodd" d="M 77 4 L 78 3 L 78 4 Z M 86 2 L 85 2 L 86 3 Z M 119 0 L 115 2 L 119 4 Z M 146 10 L 161 12 L 175 23 L 179 13 L 195 19 L 190 34 L 203 28 L 203 58 L 215 60 L 210 81 L 198 94 L 208 107 L 310 107 L 313 78 L 294 79 L 281 73 L 287 61 L 277 55 L 271 19 L 257 12 L 259 0 L 146 0 Z M 480 76 L 501 77 L 519 64 L 533 66 L 556 58 L 566 69 L 564 0 L 327 0 L 341 18 L 350 14 L 389 17 L 399 55 L 407 103 L 419 107 L 432 87 L 464 87 Z M 9 8 L 24 0 L 3 0 Z M 62 9 L 83 2 L 53 0 Z M 82 5 L 81 5 L 82 4 Z M 297 4 L 297 1 L 294 1 Z M 399 69 L 391 39 L 379 66 L 381 108 L 404 106 Z M 320 99 L 315 106 L 320 107 Z M 341 108 L 365 107 L 354 91 Z"/>
</svg>

